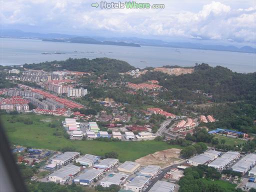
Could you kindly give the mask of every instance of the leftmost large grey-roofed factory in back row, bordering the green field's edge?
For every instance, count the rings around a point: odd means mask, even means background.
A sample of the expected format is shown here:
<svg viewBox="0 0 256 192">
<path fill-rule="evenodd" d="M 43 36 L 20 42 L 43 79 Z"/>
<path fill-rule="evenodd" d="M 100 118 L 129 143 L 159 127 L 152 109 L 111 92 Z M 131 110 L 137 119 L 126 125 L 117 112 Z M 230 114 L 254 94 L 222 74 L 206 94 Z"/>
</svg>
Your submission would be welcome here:
<svg viewBox="0 0 256 192">
<path fill-rule="evenodd" d="M 79 156 L 79 154 L 79 152 L 66 151 L 63 154 L 59 154 L 56 157 L 52 158 L 51 163 L 66 165 L 69 162 L 76 159 Z"/>
</svg>

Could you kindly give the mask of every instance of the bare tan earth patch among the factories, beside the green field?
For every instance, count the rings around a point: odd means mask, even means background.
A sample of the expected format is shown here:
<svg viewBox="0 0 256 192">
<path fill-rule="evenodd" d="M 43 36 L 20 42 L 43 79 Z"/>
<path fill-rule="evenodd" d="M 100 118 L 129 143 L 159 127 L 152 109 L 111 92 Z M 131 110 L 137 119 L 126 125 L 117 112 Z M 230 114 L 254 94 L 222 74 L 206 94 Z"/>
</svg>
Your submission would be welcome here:
<svg viewBox="0 0 256 192">
<path fill-rule="evenodd" d="M 174 163 L 177 160 L 180 160 L 179 158 L 180 150 L 181 149 L 179 148 L 170 148 L 166 150 L 156 151 L 155 153 L 148 154 L 146 156 L 136 159 L 135 162 L 141 164 L 142 166 L 153 164 L 153 165 L 164 167 Z M 164 158 L 164 153 L 165 153 L 165 158 Z"/>
</svg>

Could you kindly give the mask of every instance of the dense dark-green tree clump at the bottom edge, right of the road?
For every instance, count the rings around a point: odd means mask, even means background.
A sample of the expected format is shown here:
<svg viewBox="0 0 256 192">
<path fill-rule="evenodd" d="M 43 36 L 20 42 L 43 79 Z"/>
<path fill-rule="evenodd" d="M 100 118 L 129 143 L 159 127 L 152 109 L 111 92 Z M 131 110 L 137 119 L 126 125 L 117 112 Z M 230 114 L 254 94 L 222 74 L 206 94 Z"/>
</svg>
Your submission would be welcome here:
<svg viewBox="0 0 256 192">
<path fill-rule="evenodd" d="M 240 191 L 235 189 L 235 184 L 218 180 L 221 174 L 213 167 L 198 165 L 184 170 L 184 175 L 178 181 L 179 192 L 224 192 Z"/>
</svg>

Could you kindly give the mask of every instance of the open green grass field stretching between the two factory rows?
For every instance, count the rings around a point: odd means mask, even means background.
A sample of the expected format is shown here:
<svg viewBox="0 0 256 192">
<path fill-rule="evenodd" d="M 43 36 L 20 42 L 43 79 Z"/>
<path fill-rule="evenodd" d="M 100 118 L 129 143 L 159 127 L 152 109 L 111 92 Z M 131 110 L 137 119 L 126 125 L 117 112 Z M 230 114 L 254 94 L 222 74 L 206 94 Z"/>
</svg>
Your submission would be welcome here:
<svg viewBox="0 0 256 192">
<path fill-rule="evenodd" d="M 16 116 L 16 117 L 12 117 Z M 15 118 L 29 118 L 32 124 L 11 122 Z M 71 146 L 81 153 L 104 155 L 105 152 L 115 151 L 119 160 L 135 160 L 141 156 L 168 148 L 181 148 L 179 145 L 169 145 L 163 141 L 117 141 L 103 142 L 97 140 L 70 140 L 62 135 L 54 136 L 57 128 L 51 128 L 49 123 L 60 122 L 63 117 L 36 114 L 1 115 L 1 121 L 12 144 L 30 146 L 41 149 L 59 150 Z M 61 129 L 62 127 L 58 127 Z"/>
</svg>

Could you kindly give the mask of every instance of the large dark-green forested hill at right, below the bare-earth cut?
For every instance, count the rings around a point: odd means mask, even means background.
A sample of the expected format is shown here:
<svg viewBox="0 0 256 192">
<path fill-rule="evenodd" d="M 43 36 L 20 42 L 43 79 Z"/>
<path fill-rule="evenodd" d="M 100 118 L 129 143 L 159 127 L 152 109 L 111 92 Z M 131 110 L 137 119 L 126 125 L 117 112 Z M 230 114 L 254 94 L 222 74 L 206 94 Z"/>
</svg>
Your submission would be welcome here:
<svg viewBox="0 0 256 192">
<path fill-rule="evenodd" d="M 196 90 L 212 94 L 212 101 L 255 100 L 256 72 L 237 73 L 222 66 L 211 67 L 202 63 L 194 67 L 191 74 L 167 75 L 161 72 L 147 72 L 142 81 L 156 79 L 171 92 L 165 93 L 174 99 L 198 100 Z M 164 95 L 163 95 L 164 96 Z"/>
</svg>

